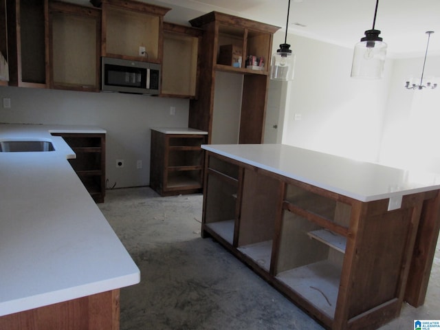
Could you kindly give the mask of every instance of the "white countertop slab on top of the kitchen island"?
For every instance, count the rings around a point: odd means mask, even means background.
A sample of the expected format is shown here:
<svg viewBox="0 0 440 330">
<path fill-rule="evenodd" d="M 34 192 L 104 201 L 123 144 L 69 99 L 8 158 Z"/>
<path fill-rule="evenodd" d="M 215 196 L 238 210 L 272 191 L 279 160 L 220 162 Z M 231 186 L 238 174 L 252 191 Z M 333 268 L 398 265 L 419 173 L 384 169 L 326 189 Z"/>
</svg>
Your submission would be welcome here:
<svg viewBox="0 0 440 330">
<path fill-rule="evenodd" d="M 340 195 L 374 201 L 440 188 L 440 175 L 360 162 L 285 144 L 203 144 L 201 148 Z"/>
</svg>

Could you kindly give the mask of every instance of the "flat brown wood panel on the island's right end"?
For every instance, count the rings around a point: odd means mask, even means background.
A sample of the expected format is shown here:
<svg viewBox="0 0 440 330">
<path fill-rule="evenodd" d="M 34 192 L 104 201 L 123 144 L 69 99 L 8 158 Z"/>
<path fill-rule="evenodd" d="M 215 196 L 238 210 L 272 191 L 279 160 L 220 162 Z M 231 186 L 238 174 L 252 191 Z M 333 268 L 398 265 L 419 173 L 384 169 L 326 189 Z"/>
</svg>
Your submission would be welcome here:
<svg viewBox="0 0 440 330">
<path fill-rule="evenodd" d="M 369 206 L 374 210 L 379 203 L 370 202 Z M 408 251 L 412 251 L 420 210 L 421 201 L 412 208 L 366 214 L 352 265 L 349 318 L 394 298 L 402 301 L 401 287 L 409 269 Z"/>
</svg>

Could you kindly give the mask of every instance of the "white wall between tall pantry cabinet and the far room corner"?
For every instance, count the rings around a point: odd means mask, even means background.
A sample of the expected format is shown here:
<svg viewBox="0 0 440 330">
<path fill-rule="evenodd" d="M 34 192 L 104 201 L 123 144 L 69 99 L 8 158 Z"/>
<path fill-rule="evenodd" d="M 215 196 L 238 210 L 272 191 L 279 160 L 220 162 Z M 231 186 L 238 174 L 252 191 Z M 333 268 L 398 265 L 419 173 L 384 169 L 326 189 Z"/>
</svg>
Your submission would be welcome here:
<svg viewBox="0 0 440 330">
<path fill-rule="evenodd" d="M 276 33 L 274 50 L 281 36 Z M 385 79 L 358 80 L 350 77 L 352 49 L 290 34 L 287 41 L 296 67 L 283 143 L 376 161 L 393 62 L 386 63 Z"/>
</svg>

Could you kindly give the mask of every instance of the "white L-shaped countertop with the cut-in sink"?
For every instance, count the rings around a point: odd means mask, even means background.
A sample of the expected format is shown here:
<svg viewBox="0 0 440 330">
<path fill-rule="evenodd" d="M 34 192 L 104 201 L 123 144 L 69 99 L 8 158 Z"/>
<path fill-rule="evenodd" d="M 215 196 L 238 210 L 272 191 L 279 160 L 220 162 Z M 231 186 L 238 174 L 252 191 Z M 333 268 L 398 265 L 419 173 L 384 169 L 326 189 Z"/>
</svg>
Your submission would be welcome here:
<svg viewBox="0 0 440 330">
<path fill-rule="evenodd" d="M 87 126 L 0 125 L 0 141 L 52 140 L 55 151 L 0 153 L 0 316 L 140 282 L 140 271 L 67 162 L 57 133 Z"/>
</svg>

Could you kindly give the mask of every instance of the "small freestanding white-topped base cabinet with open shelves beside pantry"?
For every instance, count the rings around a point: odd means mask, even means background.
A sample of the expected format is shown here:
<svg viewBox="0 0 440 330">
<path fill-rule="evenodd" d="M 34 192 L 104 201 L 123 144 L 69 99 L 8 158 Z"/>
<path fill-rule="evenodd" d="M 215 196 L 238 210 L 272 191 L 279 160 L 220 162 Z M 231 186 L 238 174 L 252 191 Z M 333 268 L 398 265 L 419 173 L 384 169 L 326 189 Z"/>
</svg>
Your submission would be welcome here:
<svg viewBox="0 0 440 330">
<path fill-rule="evenodd" d="M 151 129 L 150 186 L 159 195 L 201 192 L 206 132 L 188 128 Z"/>
</svg>

